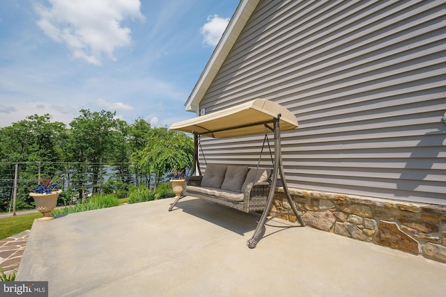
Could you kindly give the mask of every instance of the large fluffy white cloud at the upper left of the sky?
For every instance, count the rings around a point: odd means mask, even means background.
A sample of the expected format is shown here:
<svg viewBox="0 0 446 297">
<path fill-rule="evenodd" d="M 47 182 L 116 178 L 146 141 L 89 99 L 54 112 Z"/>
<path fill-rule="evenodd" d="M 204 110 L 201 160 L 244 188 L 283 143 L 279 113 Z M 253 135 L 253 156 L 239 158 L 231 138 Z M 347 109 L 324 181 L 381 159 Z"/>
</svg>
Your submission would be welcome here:
<svg viewBox="0 0 446 297">
<path fill-rule="evenodd" d="M 122 27 L 126 19 L 144 20 L 139 0 L 49 0 L 50 7 L 36 6 L 37 24 L 56 42 L 66 45 L 73 58 L 101 65 L 111 60 L 118 47 L 130 45 L 131 30 Z"/>
</svg>

